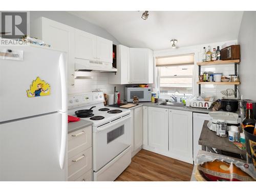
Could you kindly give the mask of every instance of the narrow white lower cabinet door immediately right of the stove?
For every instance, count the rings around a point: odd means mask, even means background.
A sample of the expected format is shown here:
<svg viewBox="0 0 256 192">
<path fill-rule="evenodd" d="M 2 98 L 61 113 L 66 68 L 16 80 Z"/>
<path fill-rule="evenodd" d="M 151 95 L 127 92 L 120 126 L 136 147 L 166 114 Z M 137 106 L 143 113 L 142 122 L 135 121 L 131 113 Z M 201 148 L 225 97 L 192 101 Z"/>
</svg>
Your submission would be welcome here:
<svg viewBox="0 0 256 192">
<path fill-rule="evenodd" d="M 132 128 L 132 157 L 135 156 L 142 148 L 143 143 L 143 107 L 138 106 L 131 110 L 131 128 Z"/>
</svg>

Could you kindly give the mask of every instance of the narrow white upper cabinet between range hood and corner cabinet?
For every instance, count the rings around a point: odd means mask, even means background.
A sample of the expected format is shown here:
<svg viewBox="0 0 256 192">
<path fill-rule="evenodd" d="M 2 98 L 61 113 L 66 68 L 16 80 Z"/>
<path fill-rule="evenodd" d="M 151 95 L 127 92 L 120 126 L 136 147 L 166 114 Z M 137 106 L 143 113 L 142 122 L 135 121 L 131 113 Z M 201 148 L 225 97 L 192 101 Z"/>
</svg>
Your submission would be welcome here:
<svg viewBox="0 0 256 192">
<path fill-rule="evenodd" d="M 130 83 L 130 48 L 122 45 L 116 46 L 117 72 L 111 73 L 109 83 Z"/>
</svg>

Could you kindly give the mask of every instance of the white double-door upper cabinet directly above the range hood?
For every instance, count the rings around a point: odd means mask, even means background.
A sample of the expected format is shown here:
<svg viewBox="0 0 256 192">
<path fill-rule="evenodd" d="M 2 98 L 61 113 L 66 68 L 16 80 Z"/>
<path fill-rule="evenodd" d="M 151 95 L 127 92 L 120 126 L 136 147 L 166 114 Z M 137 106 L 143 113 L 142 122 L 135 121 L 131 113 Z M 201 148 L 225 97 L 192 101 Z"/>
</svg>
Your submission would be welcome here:
<svg viewBox="0 0 256 192">
<path fill-rule="evenodd" d="M 75 57 L 112 63 L 113 42 L 81 30 L 75 30 Z"/>
</svg>

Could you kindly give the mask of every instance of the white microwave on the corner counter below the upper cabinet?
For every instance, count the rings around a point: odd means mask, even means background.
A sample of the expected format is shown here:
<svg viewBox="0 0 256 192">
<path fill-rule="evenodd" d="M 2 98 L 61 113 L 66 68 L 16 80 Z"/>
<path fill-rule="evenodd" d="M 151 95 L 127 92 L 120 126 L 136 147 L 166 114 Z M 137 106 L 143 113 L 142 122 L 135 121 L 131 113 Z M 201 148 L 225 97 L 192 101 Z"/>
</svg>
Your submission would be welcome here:
<svg viewBox="0 0 256 192">
<path fill-rule="evenodd" d="M 133 102 L 133 96 L 138 96 L 140 101 L 151 101 L 151 88 L 124 88 L 124 100 Z"/>
</svg>

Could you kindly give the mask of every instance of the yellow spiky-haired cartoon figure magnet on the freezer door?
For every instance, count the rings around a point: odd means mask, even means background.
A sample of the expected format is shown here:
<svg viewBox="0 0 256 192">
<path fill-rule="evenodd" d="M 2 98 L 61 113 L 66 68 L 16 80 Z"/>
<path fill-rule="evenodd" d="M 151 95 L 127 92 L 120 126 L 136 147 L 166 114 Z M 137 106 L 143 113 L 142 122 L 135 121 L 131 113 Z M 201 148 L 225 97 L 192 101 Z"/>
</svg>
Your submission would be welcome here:
<svg viewBox="0 0 256 192">
<path fill-rule="evenodd" d="M 28 97 L 39 97 L 50 95 L 51 87 L 49 83 L 36 77 L 30 85 L 30 89 L 27 90 Z"/>
</svg>

